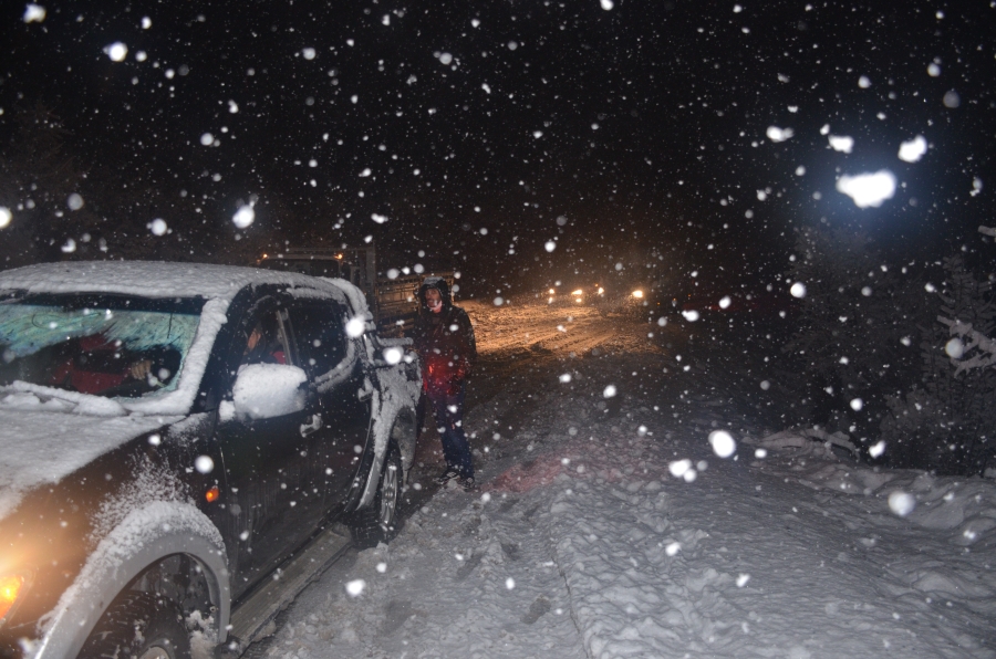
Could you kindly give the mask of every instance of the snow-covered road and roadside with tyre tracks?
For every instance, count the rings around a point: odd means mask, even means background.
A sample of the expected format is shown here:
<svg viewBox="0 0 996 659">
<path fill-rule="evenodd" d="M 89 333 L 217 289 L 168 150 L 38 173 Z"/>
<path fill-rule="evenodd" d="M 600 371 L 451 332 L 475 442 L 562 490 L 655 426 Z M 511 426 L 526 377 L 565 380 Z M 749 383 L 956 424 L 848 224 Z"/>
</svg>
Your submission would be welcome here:
<svg viewBox="0 0 996 659">
<path fill-rule="evenodd" d="M 483 491 L 427 496 L 426 435 L 397 538 L 333 565 L 250 656 L 996 657 L 993 481 L 765 442 L 722 372 L 677 362 L 679 322 L 649 342 L 608 318 L 571 357 L 508 335 L 587 312 L 468 311 Z"/>
</svg>

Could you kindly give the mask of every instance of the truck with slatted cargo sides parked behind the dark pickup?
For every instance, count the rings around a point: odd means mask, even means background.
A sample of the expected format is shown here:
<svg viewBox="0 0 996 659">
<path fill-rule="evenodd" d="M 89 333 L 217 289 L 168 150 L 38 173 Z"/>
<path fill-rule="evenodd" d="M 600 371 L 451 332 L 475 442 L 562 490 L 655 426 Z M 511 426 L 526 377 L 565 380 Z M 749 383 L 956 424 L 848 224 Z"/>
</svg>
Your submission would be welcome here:
<svg viewBox="0 0 996 659">
<path fill-rule="evenodd" d="M 325 248 L 287 248 L 267 252 L 256 262 L 260 268 L 300 272 L 312 276 L 344 279 L 363 291 L 374 322 L 384 333 L 409 327 L 418 311 L 416 292 L 426 274 L 377 271 L 375 245 L 331 250 Z M 453 291 L 454 273 L 434 272 Z"/>
</svg>

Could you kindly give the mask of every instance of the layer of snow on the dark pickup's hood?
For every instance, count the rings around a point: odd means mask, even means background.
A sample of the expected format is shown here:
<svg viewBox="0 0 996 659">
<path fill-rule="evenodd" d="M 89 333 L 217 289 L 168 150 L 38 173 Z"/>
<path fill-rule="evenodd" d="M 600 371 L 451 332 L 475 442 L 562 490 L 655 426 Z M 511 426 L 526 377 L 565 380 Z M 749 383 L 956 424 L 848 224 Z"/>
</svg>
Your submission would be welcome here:
<svg viewBox="0 0 996 659">
<path fill-rule="evenodd" d="M 58 483 L 129 439 L 180 418 L 0 408 L 0 520 L 32 488 Z"/>
</svg>

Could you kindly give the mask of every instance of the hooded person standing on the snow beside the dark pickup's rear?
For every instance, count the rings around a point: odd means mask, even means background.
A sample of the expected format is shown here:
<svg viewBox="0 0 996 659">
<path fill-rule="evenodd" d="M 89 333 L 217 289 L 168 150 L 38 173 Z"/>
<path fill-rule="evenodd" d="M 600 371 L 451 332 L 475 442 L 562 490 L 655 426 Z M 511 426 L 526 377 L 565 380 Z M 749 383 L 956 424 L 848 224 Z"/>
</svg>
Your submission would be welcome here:
<svg viewBox="0 0 996 659">
<path fill-rule="evenodd" d="M 457 479 L 464 490 L 475 490 L 474 460 L 463 426 L 465 383 L 477 359 L 477 342 L 470 317 L 453 305 L 443 278 L 427 276 L 418 289 L 412 339 L 422 357 L 423 405 L 428 401 L 432 406 L 446 458 L 446 471 L 436 482 L 445 485 Z"/>
</svg>

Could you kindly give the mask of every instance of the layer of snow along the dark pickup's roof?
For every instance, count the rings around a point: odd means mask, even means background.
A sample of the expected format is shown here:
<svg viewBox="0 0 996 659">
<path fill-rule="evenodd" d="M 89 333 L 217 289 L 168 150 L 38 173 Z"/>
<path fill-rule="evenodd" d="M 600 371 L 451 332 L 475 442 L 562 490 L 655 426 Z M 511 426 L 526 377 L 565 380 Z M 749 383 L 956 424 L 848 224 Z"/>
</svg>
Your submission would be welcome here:
<svg viewBox="0 0 996 659">
<path fill-rule="evenodd" d="M 363 294 L 344 280 L 312 278 L 236 265 L 163 261 L 73 261 L 39 263 L 0 272 L 0 290 L 29 293 L 117 293 L 143 297 L 231 300 L 252 284 L 311 289 L 330 297 L 349 299 L 354 313 L 366 311 Z"/>
</svg>

